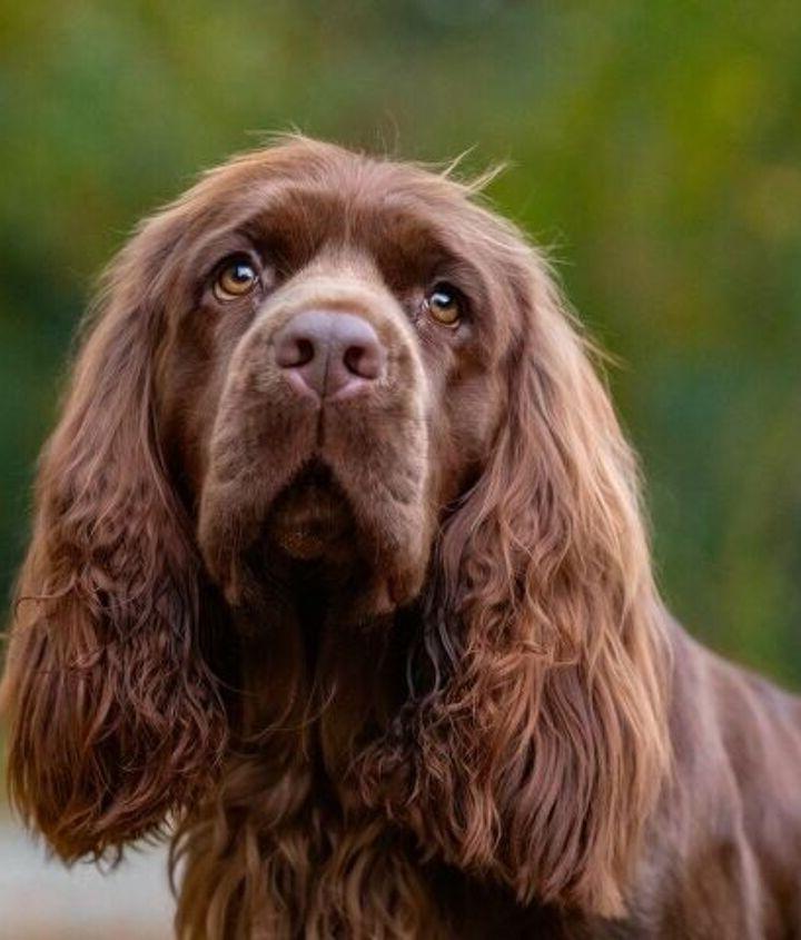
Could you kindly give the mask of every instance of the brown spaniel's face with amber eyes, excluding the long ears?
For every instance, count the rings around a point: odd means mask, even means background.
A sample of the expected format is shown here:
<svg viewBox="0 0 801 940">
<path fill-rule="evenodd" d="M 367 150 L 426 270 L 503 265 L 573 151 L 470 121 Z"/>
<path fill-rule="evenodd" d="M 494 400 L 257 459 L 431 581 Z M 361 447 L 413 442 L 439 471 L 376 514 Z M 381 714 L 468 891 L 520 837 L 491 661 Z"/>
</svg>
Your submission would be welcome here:
<svg viewBox="0 0 801 940">
<path fill-rule="evenodd" d="M 317 562 L 386 612 L 501 418 L 505 232 L 456 184 L 346 151 L 247 171 L 217 175 L 169 260 L 160 436 L 231 605 Z"/>
</svg>

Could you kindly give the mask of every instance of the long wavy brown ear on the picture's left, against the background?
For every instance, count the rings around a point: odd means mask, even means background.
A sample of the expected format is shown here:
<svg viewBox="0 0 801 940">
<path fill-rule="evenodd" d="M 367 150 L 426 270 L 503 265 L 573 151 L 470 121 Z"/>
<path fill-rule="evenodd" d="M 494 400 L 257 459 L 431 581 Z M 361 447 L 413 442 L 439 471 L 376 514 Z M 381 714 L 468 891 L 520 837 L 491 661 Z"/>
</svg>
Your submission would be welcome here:
<svg viewBox="0 0 801 940">
<path fill-rule="evenodd" d="M 68 861 L 157 831 L 195 799 L 226 735 L 200 650 L 199 564 L 151 402 L 175 236 L 157 217 L 107 275 L 40 459 L 14 607 L 10 791 Z"/>
</svg>

